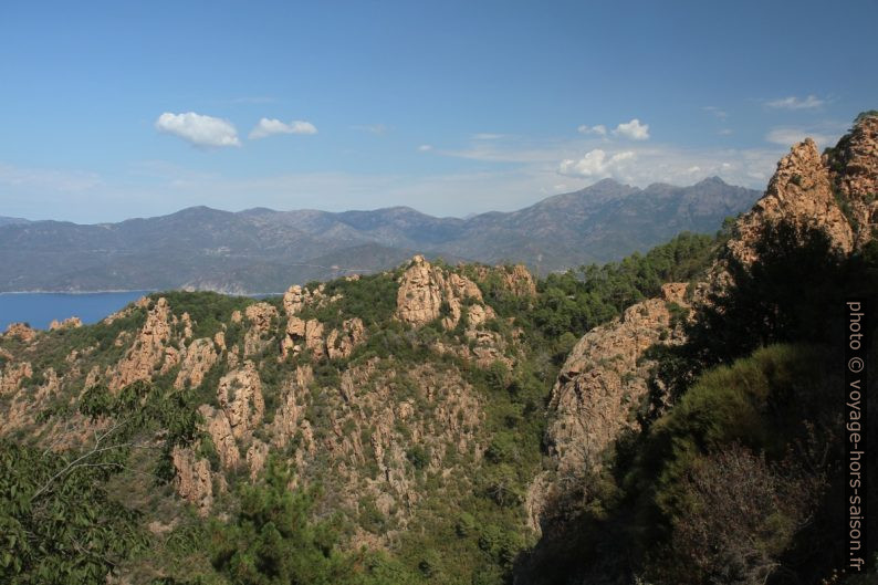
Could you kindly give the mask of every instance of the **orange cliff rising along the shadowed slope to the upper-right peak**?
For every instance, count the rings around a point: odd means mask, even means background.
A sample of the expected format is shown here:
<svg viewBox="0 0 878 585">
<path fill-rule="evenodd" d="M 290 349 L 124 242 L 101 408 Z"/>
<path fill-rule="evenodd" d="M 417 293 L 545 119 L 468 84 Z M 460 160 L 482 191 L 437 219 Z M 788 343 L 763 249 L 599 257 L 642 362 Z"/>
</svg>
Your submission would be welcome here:
<svg viewBox="0 0 878 585">
<path fill-rule="evenodd" d="M 850 253 L 876 237 L 876 194 L 878 116 L 867 116 L 824 155 L 811 138 L 794 145 L 778 161 L 763 197 L 736 222 L 728 251 L 752 262 L 764 226 L 785 220 L 824 231 L 839 251 Z M 679 314 L 705 302 L 708 291 L 729 282 L 722 262 L 708 274 L 708 281 L 693 286 L 691 299 L 686 297 L 686 284 L 666 284 L 661 297 L 638 303 L 588 332 L 567 356 L 548 405 L 545 437 L 551 469 L 529 490 L 534 527 L 545 505 L 563 497 L 565 484 L 599 469 L 606 450 L 626 429 L 637 427 L 634 408 L 647 393 L 652 365 L 644 359 L 644 352 L 654 344 L 686 341 L 681 321 L 675 325 L 671 310 Z"/>
</svg>

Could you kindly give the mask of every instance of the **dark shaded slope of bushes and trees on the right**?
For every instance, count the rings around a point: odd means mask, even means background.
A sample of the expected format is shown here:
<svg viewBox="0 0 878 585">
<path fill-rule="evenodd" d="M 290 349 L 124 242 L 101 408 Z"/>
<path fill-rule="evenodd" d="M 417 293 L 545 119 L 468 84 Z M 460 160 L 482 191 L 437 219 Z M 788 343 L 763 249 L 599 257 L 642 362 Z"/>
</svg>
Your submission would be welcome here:
<svg viewBox="0 0 878 585">
<path fill-rule="evenodd" d="M 878 294 L 878 247 L 844 258 L 823 232 L 782 223 L 756 253 L 750 267 L 724 258 L 733 284 L 700 306 L 686 344 L 654 352 L 654 391 L 672 408 L 584 480 L 523 579 L 817 584 L 846 566 L 842 317 L 846 297 Z"/>
</svg>

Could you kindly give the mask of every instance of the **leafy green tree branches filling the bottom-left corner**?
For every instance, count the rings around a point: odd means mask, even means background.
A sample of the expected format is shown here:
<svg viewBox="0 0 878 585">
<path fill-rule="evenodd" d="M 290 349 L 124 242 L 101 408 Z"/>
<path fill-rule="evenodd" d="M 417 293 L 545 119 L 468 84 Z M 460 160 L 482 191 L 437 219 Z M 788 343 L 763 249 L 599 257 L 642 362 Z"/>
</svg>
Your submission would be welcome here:
<svg viewBox="0 0 878 585">
<path fill-rule="evenodd" d="M 114 564 L 144 547 L 137 514 L 111 502 L 118 453 L 88 466 L 0 441 L 0 581 L 104 583 Z"/>
</svg>

